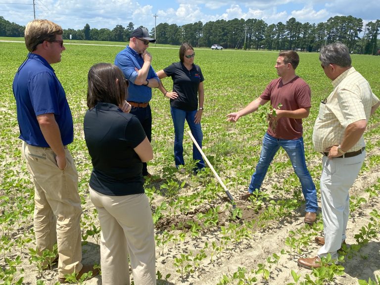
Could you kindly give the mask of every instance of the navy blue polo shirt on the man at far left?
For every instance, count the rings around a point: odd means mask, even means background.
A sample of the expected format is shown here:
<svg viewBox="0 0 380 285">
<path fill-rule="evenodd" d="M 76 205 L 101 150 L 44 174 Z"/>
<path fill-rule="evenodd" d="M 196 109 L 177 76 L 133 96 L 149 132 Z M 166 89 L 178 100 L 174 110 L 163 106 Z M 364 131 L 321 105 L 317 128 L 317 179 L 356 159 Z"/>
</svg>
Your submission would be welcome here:
<svg viewBox="0 0 380 285">
<path fill-rule="evenodd" d="M 31 53 L 19 67 L 13 80 L 20 139 L 28 144 L 49 147 L 37 116 L 54 114 L 62 143 L 73 142 L 74 127 L 65 91 L 54 69 L 42 56 Z"/>
</svg>

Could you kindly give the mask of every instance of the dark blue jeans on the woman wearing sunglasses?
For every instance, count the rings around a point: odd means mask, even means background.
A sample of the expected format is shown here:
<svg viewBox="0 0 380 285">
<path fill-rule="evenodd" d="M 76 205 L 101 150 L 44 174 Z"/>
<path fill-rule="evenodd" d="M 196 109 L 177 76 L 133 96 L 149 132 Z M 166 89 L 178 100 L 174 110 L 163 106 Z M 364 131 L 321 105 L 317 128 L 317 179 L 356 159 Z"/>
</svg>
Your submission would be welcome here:
<svg viewBox="0 0 380 285">
<path fill-rule="evenodd" d="M 170 107 L 170 113 L 172 114 L 173 124 L 174 124 L 174 160 L 176 167 L 179 165 L 185 165 L 184 161 L 184 129 L 185 129 L 185 119 L 188 122 L 190 131 L 195 141 L 198 143 L 200 148 L 202 148 L 203 133 L 199 124 L 194 123 L 194 117 L 197 110 L 194 111 L 184 111 L 181 109 Z M 198 169 L 204 167 L 204 161 L 199 150 L 196 148 L 195 144 L 192 144 L 192 159 L 199 160 L 197 164 Z"/>
</svg>

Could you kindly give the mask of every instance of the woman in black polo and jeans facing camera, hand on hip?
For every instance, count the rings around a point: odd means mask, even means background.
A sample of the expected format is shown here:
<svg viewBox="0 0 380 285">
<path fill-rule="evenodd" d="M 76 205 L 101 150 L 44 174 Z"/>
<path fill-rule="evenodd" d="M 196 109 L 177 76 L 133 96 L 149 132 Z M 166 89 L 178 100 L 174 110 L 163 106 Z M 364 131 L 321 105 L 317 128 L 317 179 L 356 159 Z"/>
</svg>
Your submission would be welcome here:
<svg viewBox="0 0 380 285">
<path fill-rule="evenodd" d="M 202 147 L 203 134 L 200 120 L 203 113 L 204 91 L 203 75 L 200 67 L 194 64 L 195 52 L 190 44 L 182 44 L 180 47 L 180 61 L 157 72 L 157 76 L 162 79 L 171 77 L 173 80 L 173 91 L 166 91 L 160 83 L 160 91 L 170 98 L 170 112 L 174 124 L 174 159 L 176 167 L 185 165 L 184 161 L 184 127 L 185 119 L 190 127 L 191 134 L 195 141 Z M 199 108 L 198 108 L 199 102 Z M 204 168 L 204 161 L 199 150 L 193 144 L 192 158 L 198 160 L 194 174 Z"/>
</svg>

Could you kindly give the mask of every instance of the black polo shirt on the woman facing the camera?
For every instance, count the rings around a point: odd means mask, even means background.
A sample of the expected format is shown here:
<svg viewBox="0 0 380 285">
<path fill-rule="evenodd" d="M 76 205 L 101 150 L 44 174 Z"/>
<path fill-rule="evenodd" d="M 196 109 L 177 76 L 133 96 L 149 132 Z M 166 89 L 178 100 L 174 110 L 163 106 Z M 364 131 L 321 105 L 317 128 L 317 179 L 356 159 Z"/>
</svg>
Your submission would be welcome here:
<svg viewBox="0 0 380 285">
<path fill-rule="evenodd" d="M 170 99 L 173 108 L 193 111 L 198 107 L 198 86 L 204 81 L 202 71 L 196 64 L 191 70 L 180 62 L 175 62 L 164 69 L 167 76 L 173 80 L 173 91 L 178 94 L 176 99 Z"/>
</svg>

